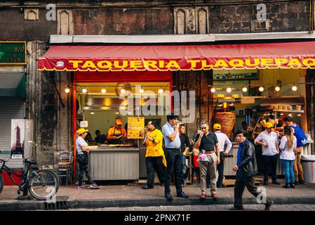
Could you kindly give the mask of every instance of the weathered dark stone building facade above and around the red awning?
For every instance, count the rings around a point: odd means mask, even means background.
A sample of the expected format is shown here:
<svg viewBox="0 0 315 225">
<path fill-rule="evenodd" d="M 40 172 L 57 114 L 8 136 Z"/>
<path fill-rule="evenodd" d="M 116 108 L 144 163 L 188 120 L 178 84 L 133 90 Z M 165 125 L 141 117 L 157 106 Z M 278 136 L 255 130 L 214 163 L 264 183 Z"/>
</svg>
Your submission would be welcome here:
<svg viewBox="0 0 315 225">
<path fill-rule="evenodd" d="M 55 4 L 55 20 L 51 8 Z M 267 20 L 257 20 L 264 4 Z M 311 32 L 312 1 L 0 1 L 0 40 L 27 41 L 26 117 L 34 120 L 33 157 L 52 165 L 56 150 L 72 148 L 72 96 L 67 72 L 39 72 L 37 60 L 49 47 L 51 34 L 241 34 Z M 49 17 L 50 16 L 50 17 Z M 196 90 L 196 122 L 211 123 L 211 71 L 174 72 L 175 89 Z M 314 88 L 314 87 L 313 87 Z M 310 96 L 311 97 L 311 96 Z M 312 96 L 314 98 L 314 96 Z M 314 121 L 314 120 L 312 120 Z"/>
</svg>

